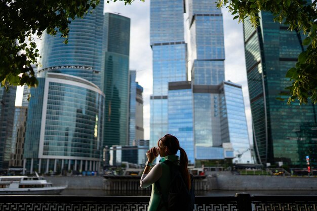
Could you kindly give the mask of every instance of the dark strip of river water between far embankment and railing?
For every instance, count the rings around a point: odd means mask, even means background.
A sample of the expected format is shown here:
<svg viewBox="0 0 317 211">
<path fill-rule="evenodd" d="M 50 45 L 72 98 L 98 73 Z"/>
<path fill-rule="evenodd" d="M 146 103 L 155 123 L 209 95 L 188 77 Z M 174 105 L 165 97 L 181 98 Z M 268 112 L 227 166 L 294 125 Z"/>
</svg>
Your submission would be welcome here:
<svg viewBox="0 0 317 211">
<path fill-rule="evenodd" d="M 248 192 L 251 195 L 316 195 L 317 190 L 210 190 L 196 191 L 196 196 L 234 196 L 235 193 Z M 105 191 L 101 189 L 65 189 L 61 195 L 87 196 L 149 196 L 149 191 Z"/>
</svg>

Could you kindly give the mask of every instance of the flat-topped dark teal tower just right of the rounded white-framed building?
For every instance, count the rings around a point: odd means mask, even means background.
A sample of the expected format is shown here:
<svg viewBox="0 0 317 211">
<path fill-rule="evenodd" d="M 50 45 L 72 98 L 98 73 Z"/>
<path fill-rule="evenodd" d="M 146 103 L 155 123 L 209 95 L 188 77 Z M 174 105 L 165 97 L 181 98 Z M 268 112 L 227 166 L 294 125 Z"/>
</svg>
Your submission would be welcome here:
<svg viewBox="0 0 317 211">
<path fill-rule="evenodd" d="M 130 19 L 105 13 L 102 90 L 105 93 L 103 145 L 127 145 L 129 124 Z"/>
</svg>

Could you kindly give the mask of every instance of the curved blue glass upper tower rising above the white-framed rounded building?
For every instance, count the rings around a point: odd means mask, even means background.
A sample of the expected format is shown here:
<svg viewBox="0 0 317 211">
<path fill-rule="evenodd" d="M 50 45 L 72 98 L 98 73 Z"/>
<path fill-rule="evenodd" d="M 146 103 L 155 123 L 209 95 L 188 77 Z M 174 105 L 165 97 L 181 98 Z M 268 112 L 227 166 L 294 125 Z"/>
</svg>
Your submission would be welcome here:
<svg viewBox="0 0 317 211">
<path fill-rule="evenodd" d="M 44 34 L 42 39 L 42 69 L 84 78 L 100 87 L 103 0 L 83 18 L 71 20 L 68 43 L 60 33 L 55 36 Z M 44 74 L 44 71 L 40 71 Z"/>
</svg>

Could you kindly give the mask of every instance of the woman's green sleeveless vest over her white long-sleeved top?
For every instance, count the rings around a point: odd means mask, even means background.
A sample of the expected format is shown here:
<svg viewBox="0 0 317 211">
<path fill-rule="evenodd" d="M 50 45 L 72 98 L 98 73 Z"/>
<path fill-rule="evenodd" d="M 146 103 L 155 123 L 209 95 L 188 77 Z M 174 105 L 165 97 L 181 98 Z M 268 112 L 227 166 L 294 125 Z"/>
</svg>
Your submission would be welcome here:
<svg viewBox="0 0 317 211">
<path fill-rule="evenodd" d="M 169 184 L 170 184 L 170 168 L 167 164 L 162 163 L 164 161 L 179 161 L 179 156 L 177 155 L 168 155 L 163 157 L 160 160 L 160 165 L 162 166 L 162 176 L 159 179 L 159 183 L 162 189 L 162 197 L 164 201 L 167 201 L 167 196 L 168 196 L 168 192 L 169 192 Z M 177 165 L 179 165 L 179 162 L 175 162 L 177 163 Z M 148 204 L 148 211 L 156 211 L 157 207 L 159 206 L 161 201 L 161 194 L 159 192 L 159 190 L 157 189 L 155 183 L 152 184 L 152 192 L 151 192 L 151 199 L 150 202 Z M 157 211 L 167 211 L 166 207 L 163 206 L 160 210 Z"/>
</svg>

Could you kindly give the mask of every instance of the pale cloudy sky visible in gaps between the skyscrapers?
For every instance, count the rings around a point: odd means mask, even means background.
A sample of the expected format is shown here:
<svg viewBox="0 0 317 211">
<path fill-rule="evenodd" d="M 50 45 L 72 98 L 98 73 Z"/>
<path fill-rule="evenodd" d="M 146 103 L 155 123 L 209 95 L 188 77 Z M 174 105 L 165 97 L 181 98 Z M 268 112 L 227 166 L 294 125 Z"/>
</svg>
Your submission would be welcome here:
<svg viewBox="0 0 317 211">
<path fill-rule="evenodd" d="M 144 138 L 150 137 L 150 106 L 149 97 L 152 94 L 152 50 L 150 48 L 150 1 L 136 0 L 125 6 L 123 2 L 105 4 L 104 12 L 119 13 L 131 19 L 130 31 L 130 69 L 137 71 L 137 81 L 143 86 L 144 100 Z M 244 57 L 244 40 L 242 23 L 232 20 L 233 16 L 222 9 L 224 21 L 225 44 L 225 79 L 241 84 L 246 105 L 246 115 L 250 141 L 251 112 Z"/>
</svg>

